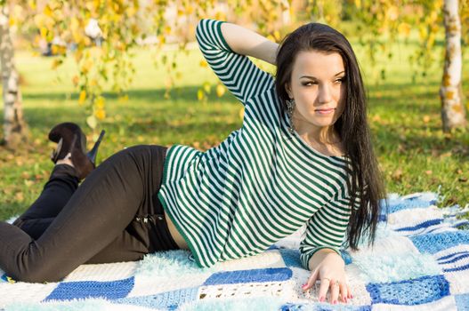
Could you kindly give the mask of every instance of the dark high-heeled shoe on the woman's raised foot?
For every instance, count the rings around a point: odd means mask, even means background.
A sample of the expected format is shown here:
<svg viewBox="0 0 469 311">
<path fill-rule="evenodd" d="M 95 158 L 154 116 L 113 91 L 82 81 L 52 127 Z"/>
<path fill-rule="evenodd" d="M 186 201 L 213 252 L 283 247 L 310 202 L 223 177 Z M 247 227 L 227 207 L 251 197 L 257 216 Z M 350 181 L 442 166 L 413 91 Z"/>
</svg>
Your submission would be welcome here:
<svg viewBox="0 0 469 311">
<path fill-rule="evenodd" d="M 57 143 L 51 160 L 57 163 L 69 158 L 77 170 L 77 178 L 85 179 L 96 167 L 96 156 L 104 133 L 101 131 L 91 151 L 86 153 L 86 136 L 77 124 L 67 122 L 55 125 L 49 132 L 49 140 Z"/>
</svg>

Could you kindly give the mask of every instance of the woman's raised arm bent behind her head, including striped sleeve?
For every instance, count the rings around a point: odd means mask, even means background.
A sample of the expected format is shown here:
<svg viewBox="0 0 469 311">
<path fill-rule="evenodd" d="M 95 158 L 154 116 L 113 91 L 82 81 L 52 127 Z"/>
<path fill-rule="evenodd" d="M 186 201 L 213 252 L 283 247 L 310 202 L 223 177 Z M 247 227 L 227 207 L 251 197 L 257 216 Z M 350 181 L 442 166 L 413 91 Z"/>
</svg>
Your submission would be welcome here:
<svg viewBox="0 0 469 311">
<path fill-rule="evenodd" d="M 200 20 L 200 51 L 216 76 L 243 104 L 273 86 L 273 78 L 247 58 L 275 63 L 278 44 L 247 28 L 219 20 Z"/>
</svg>

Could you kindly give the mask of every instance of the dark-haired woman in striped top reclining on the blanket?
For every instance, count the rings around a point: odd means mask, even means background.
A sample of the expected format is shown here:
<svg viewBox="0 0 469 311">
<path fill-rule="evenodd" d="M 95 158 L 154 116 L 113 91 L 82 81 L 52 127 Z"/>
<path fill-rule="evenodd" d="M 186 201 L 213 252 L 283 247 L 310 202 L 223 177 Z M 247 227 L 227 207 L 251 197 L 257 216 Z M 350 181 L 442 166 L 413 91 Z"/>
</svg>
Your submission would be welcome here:
<svg viewBox="0 0 469 311">
<path fill-rule="evenodd" d="M 373 240 L 384 187 L 351 45 L 316 23 L 280 46 L 216 20 L 201 20 L 197 38 L 245 105 L 243 126 L 206 152 L 140 146 L 111 156 L 36 238 L 0 224 L 5 272 L 52 281 L 85 262 L 174 248 L 210 267 L 264 251 L 306 223 L 300 253 L 311 277 L 303 290 L 320 280 L 319 300 L 328 291 L 332 303 L 352 297 L 339 248 L 345 239 L 356 248 L 365 233 Z M 276 78 L 247 56 L 277 65 Z M 57 163 L 75 165 L 71 154 Z"/>
</svg>

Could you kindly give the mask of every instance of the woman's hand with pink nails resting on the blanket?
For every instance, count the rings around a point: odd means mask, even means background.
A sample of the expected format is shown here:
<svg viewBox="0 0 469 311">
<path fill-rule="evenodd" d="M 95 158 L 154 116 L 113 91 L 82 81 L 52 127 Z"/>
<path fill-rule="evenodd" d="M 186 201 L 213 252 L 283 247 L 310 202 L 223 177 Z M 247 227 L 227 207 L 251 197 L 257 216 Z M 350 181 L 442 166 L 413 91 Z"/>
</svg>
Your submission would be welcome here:
<svg viewBox="0 0 469 311">
<path fill-rule="evenodd" d="M 310 259 L 309 267 L 311 276 L 303 284 L 303 291 L 311 289 L 319 280 L 319 301 L 326 300 L 327 291 L 330 291 L 329 302 L 333 304 L 337 303 L 339 294 L 343 302 L 352 299 L 352 292 L 345 278 L 344 260 L 336 251 L 321 249 L 315 252 Z"/>
</svg>

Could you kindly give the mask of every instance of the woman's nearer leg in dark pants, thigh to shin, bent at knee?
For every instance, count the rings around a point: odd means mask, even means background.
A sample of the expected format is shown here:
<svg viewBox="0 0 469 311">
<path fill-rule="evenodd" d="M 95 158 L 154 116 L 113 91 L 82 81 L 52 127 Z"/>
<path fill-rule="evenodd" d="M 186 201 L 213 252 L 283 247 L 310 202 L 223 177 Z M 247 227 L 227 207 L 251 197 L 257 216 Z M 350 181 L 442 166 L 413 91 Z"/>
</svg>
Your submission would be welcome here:
<svg viewBox="0 0 469 311">
<path fill-rule="evenodd" d="M 93 259 L 122 235 L 142 206 L 153 204 L 165 155 L 166 148 L 139 146 L 109 157 L 37 240 L 0 222 L 0 268 L 20 281 L 58 281 Z"/>
</svg>

